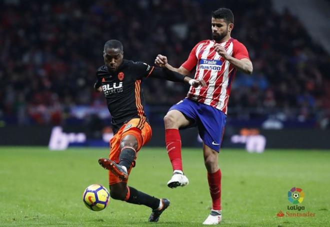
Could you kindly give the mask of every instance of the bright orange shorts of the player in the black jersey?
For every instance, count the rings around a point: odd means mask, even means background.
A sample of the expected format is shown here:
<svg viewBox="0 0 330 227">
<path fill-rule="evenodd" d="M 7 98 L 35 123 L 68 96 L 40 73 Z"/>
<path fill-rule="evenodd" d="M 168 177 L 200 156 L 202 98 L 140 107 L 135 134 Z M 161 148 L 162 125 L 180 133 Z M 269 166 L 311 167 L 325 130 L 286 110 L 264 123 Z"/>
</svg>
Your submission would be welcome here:
<svg viewBox="0 0 330 227">
<path fill-rule="evenodd" d="M 110 154 L 109 159 L 119 162 L 119 154 L 120 154 L 120 141 L 126 135 L 133 135 L 137 140 L 137 149 L 136 152 L 147 143 L 152 135 L 152 130 L 150 125 L 144 120 L 140 118 L 133 118 L 129 120 L 127 123 L 123 124 L 117 133 L 110 139 Z M 136 159 L 136 157 L 135 157 Z M 130 166 L 128 170 L 128 174 L 131 170 L 132 166 Z M 114 175 L 111 171 L 109 171 L 109 185 L 118 182 L 127 182 L 121 181 L 116 175 Z"/>
</svg>

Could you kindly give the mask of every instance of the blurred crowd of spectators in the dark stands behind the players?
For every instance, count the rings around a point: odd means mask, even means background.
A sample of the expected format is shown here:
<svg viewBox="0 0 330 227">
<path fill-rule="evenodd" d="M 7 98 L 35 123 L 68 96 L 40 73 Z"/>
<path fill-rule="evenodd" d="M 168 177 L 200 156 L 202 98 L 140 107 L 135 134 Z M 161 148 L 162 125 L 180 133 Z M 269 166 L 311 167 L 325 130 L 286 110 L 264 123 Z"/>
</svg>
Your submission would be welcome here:
<svg viewBox="0 0 330 227">
<path fill-rule="evenodd" d="M 76 106 L 105 106 L 93 90 L 103 44 L 118 39 L 124 58 L 179 66 L 211 37 L 211 11 L 234 13 L 232 37 L 247 47 L 253 74 L 237 73 L 228 114 L 323 119 L 330 108 L 330 57 L 289 11 L 268 0 L 5 0 L 0 2 L 0 119 L 60 124 Z M 164 85 L 165 84 L 165 85 Z M 147 79 L 148 108 L 170 106 L 188 87 Z"/>
</svg>

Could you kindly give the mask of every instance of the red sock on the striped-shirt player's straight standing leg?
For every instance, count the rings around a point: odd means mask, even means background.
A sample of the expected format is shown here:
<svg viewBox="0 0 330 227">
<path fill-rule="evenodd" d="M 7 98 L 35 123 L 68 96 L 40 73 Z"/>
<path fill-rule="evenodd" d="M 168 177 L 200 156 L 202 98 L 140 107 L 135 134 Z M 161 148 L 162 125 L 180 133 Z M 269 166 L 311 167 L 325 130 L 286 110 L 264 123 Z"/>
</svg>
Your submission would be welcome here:
<svg viewBox="0 0 330 227">
<path fill-rule="evenodd" d="M 207 173 L 209 193 L 212 197 L 212 209 L 221 210 L 221 171 Z"/>
</svg>

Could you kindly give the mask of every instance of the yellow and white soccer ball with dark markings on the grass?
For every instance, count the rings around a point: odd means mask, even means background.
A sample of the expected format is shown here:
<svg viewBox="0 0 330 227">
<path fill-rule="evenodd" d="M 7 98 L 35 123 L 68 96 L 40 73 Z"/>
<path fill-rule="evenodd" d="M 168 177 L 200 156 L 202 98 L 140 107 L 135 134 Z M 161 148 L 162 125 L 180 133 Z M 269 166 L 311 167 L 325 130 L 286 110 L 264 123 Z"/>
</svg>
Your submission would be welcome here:
<svg viewBox="0 0 330 227">
<path fill-rule="evenodd" d="M 109 203 L 109 192 L 100 184 L 91 184 L 83 192 L 82 201 L 89 209 L 100 211 Z"/>
</svg>

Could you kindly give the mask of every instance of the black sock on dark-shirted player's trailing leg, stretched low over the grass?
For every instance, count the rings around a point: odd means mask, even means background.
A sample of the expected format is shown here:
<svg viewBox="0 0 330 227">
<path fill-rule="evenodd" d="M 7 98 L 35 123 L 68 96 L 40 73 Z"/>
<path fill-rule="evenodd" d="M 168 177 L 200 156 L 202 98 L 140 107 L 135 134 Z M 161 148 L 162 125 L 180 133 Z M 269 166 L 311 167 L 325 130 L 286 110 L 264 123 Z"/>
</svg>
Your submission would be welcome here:
<svg viewBox="0 0 330 227">
<path fill-rule="evenodd" d="M 155 198 L 151 195 L 145 194 L 142 191 L 136 190 L 134 187 L 129 187 L 129 198 L 126 202 L 138 204 L 138 205 L 146 205 L 151 209 L 156 209 L 159 206 L 159 198 Z"/>
</svg>

